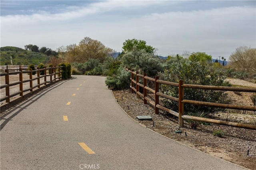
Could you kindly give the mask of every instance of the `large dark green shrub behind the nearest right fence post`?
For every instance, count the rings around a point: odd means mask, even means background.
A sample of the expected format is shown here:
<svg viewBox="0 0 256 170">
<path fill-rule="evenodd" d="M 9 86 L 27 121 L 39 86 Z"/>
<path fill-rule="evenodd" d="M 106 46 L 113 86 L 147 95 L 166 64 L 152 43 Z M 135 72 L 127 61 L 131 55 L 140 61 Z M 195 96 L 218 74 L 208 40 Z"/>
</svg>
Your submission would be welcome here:
<svg viewBox="0 0 256 170">
<path fill-rule="evenodd" d="M 189 61 L 180 59 L 179 55 L 176 58 L 177 65 L 173 65 L 170 70 L 165 70 L 165 80 L 178 83 L 179 80 L 184 80 L 185 84 L 200 84 L 208 86 L 221 86 L 225 80 L 223 72 L 210 72 L 206 68 L 206 62 L 198 62 L 196 60 Z M 178 98 L 178 87 L 162 85 L 162 93 Z M 202 89 L 184 89 L 184 99 L 197 100 L 203 102 L 224 103 L 227 94 L 222 91 L 202 90 Z M 162 100 L 165 107 L 178 112 L 178 102 L 168 99 Z M 184 114 L 190 112 L 204 112 L 207 114 L 216 113 L 220 108 L 208 106 L 196 106 L 184 104 Z"/>
</svg>

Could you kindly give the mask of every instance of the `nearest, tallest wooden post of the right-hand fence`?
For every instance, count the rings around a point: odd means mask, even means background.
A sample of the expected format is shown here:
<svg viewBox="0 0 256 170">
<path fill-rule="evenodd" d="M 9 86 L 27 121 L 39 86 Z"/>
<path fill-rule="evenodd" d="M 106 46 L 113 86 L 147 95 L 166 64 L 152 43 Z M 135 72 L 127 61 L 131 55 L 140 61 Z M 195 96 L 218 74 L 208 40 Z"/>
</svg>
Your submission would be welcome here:
<svg viewBox="0 0 256 170">
<path fill-rule="evenodd" d="M 184 99 L 184 88 L 182 85 L 184 84 L 183 80 L 179 81 L 179 126 L 184 127 L 184 119 L 182 118 L 184 114 L 184 103 L 182 102 Z"/>
</svg>

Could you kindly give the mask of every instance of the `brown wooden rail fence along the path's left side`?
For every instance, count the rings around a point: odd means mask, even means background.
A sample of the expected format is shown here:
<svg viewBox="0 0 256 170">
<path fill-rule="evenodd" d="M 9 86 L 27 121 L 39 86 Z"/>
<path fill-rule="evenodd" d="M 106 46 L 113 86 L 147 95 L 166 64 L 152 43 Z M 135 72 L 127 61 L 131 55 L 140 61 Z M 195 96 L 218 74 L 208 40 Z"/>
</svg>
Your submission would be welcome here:
<svg viewBox="0 0 256 170">
<path fill-rule="evenodd" d="M 5 96 L 1 96 L 1 102 L 6 100 L 6 103 L 10 104 L 10 98 L 20 95 L 20 96 L 24 96 L 24 92 L 30 91 L 30 93 L 34 92 L 34 88 L 42 88 L 43 86 L 47 86 L 48 84 L 52 84 L 52 82 L 57 81 L 62 79 L 61 76 L 61 66 L 58 67 L 44 67 L 44 68 L 37 68 L 36 70 L 24 70 L 24 68 L 19 68 L 18 71 L 12 71 L 9 72 L 9 70 L 13 70 L 13 69 L 5 69 L 4 72 L 0 73 L 0 76 L 5 76 L 5 84 L 2 84 L 1 82 L 1 86 L 0 89 L 5 88 Z M 47 70 L 48 70 L 48 74 L 47 74 Z M 29 79 L 28 80 L 23 80 L 23 74 L 27 73 L 29 74 Z M 35 78 L 33 78 L 33 73 L 36 75 Z M 40 73 L 43 75 L 40 75 Z M 19 81 L 18 82 L 12 82 L 10 83 L 10 75 L 17 75 L 19 74 Z M 50 81 L 47 81 L 47 78 L 50 76 Z M 40 78 L 44 78 L 43 82 L 40 82 Z M 33 80 L 37 80 L 37 84 L 34 85 L 33 84 Z M 30 82 L 30 87 L 27 89 L 23 88 L 23 84 L 26 82 Z M 11 86 L 15 86 L 18 85 L 20 86 L 20 89 L 18 92 L 10 94 L 10 87 Z M 43 85 L 43 86 L 42 86 Z"/>
</svg>

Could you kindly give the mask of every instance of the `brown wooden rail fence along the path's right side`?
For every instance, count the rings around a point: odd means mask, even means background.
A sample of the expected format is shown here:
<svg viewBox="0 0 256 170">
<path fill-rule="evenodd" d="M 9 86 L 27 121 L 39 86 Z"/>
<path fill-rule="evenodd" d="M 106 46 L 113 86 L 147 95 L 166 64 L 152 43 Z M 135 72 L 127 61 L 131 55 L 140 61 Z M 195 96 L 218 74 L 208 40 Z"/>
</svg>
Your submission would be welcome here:
<svg viewBox="0 0 256 170">
<path fill-rule="evenodd" d="M 168 82 L 164 80 L 159 80 L 159 76 L 155 76 L 155 78 L 148 77 L 145 73 L 139 74 L 139 72 L 134 72 L 134 70 L 129 70 L 126 68 L 126 71 L 131 73 L 131 92 L 136 93 L 137 98 L 142 97 L 144 100 L 144 104 L 151 104 L 154 106 L 155 113 L 159 114 L 159 109 L 162 109 L 176 117 L 178 117 L 178 124 L 180 127 L 184 127 L 184 119 L 185 120 L 193 120 L 193 121 L 202 121 L 206 123 L 215 123 L 219 125 L 227 125 L 232 127 L 241 127 L 245 129 L 253 129 L 256 130 L 256 125 L 249 125 L 249 124 L 242 124 L 242 123 L 235 123 L 230 121 L 222 121 L 216 119 L 208 119 L 204 117 L 196 117 L 190 115 L 184 115 L 184 104 L 193 104 L 198 106 L 210 106 L 210 107 L 220 107 L 226 109 L 238 109 L 238 110 L 248 110 L 248 111 L 256 111 L 255 106 L 237 106 L 231 104 L 219 104 L 219 103 L 212 103 L 212 102 L 201 102 L 195 100 L 184 100 L 184 88 L 193 88 L 193 89 L 204 89 L 204 90 L 220 90 L 220 91 L 234 91 L 234 92 L 256 92 L 256 88 L 243 88 L 243 87 L 226 87 L 226 86 L 204 86 L 204 85 L 195 85 L 195 84 L 184 84 L 183 80 L 180 80 L 179 83 L 175 82 Z M 143 78 L 143 84 L 140 84 L 139 80 Z M 147 86 L 147 80 L 155 82 L 155 89 L 152 89 Z M 174 98 L 172 96 L 168 96 L 166 94 L 162 94 L 159 92 L 159 84 L 166 84 L 169 86 L 178 87 L 179 90 L 179 97 Z M 140 93 L 139 88 L 143 88 L 143 94 Z M 154 101 L 152 101 L 147 96 L 147 91 L 150 91 L 154 94 Z M 164 106 L 159 104 L 159 96 L 163 98 L 167 98 L 169 100 L 173 100 L 178 102 L 178 112 L 170 110 Z"/>
</svg>

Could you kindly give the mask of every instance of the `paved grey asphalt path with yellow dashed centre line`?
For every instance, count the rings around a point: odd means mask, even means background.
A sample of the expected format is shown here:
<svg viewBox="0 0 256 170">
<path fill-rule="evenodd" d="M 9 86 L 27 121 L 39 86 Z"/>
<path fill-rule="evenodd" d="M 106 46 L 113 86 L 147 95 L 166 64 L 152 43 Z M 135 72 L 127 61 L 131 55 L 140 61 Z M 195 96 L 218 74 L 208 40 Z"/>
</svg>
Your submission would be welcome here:
<svg viewBox="0 0 256 170">
<path fill-rule="evenodd" d="M 239 170 L 133 121 L 100 76 L 36 94 L 1 120 L 1 170 Z"/>
</svg>

